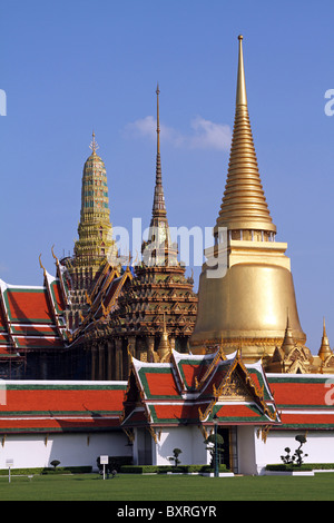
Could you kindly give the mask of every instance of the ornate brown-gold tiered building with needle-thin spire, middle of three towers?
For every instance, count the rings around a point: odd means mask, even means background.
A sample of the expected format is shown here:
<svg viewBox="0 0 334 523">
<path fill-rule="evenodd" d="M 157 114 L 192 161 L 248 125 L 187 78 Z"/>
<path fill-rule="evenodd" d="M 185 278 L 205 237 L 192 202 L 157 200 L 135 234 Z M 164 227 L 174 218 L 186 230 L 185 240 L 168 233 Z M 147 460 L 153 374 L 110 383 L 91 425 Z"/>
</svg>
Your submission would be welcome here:
<svg viewBox="0 0 334 523">
<path fill-rule="evenodd" d="M 143 243 L 141 262 L 135 264 L 135 277 L 119 299 L 111 323 L 120 324 L 130 355 L 146 362 L 167 362 L 171 349 L 188 352 L 197 314 L 193 277 L 178 260 L 171 243 L 165 204 L 157 87 L 156 182 L 148 238 Z"/>
</svg>

